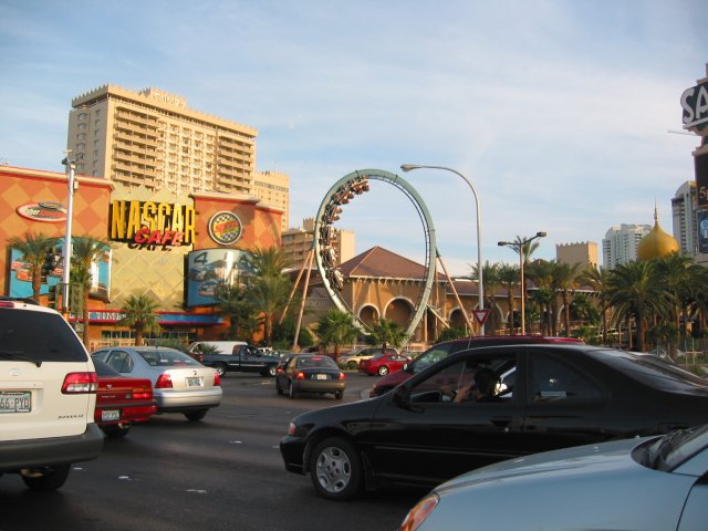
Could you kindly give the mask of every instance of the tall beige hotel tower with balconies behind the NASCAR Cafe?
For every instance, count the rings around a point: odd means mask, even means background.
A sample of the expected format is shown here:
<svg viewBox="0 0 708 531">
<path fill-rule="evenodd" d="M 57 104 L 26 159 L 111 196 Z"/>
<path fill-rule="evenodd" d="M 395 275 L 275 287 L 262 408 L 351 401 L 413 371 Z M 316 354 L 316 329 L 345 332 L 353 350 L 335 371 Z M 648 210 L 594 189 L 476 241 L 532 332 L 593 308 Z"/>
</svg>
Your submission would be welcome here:
<svg viewBox="0 0 708 531">
<path fill-rule="evenodd" d="M 80 175 L 175 195 L 254 196 L 283 208 L 287 228 L 289 179 L 256 171 L 257 135 L 165 91 L 103 85 L 72 101 L 67 146 Z"/>
</svg>

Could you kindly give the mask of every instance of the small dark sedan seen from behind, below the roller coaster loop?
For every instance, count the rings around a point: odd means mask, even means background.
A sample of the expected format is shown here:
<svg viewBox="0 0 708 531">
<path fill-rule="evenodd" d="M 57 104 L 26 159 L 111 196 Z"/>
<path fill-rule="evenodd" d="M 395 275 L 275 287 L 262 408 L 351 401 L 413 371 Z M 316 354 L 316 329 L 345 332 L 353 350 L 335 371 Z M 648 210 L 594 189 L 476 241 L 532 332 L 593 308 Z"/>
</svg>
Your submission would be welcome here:
<svg viewBox="0 0 708 531">
<path fill-rule="evenodd" d="M 346 387 L 346 376 L 330 356 L 296 354 L 275 373 L 275 391 L 288 392 L 291 398 L 299 393 L 334 393 L 341 400 Z"/>
</svg>

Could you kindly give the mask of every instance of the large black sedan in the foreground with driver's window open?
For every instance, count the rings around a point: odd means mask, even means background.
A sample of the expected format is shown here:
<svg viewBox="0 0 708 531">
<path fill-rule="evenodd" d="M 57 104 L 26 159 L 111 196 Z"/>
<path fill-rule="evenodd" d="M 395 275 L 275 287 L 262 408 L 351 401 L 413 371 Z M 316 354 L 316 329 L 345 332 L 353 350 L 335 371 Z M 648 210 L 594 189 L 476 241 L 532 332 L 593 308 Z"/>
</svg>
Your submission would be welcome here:
<svg viewBox="0 0 708 531">
<path fill-rule="evenodd" d="M 456 399 L 485 368 L 492 399 Z M 470 394 L 471 396 L 471 394 Z M 434 486 L 509 458 L 708 423 L 708 381 L 654 356 L 587 345 L 465 351 L 369 400 L 302 414 L 285 469 L 348 499 L 383 482 Z"/>
</svg>

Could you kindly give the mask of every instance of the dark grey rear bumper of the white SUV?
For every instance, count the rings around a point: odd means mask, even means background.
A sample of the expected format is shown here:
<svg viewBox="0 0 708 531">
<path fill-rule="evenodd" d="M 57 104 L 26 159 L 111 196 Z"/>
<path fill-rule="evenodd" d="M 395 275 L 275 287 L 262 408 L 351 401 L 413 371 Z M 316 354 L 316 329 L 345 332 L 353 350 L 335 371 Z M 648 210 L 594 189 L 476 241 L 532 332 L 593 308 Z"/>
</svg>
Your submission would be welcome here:
<svg viewBox="0 0 708 531">
<path fill-rule="evenodd" d="M 0 471 L 15 472 L 23 468 L 90 461 L 103 449 L 103 433 L 95 424 L 71 437 L 6 440 L 0 442 Z"/>
</svg>

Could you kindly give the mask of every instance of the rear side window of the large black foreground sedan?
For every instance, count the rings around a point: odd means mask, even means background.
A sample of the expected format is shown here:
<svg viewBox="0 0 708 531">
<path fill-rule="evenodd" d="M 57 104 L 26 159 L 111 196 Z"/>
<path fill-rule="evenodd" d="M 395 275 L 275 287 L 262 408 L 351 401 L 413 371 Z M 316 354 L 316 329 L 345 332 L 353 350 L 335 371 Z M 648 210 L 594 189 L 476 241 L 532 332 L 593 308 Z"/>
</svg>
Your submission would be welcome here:
<svg viewBox="0 0 708 531">
<path fill-rule="evenodd" d="M 597 399 L 602 391 L 575 368 L 544 355 L 531 360 L 530 402 Z"/>
</svg>

